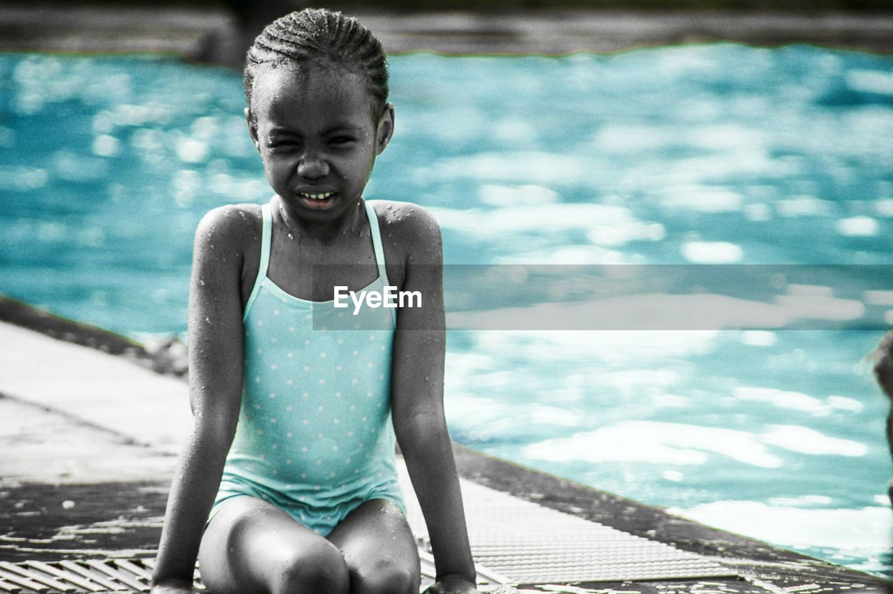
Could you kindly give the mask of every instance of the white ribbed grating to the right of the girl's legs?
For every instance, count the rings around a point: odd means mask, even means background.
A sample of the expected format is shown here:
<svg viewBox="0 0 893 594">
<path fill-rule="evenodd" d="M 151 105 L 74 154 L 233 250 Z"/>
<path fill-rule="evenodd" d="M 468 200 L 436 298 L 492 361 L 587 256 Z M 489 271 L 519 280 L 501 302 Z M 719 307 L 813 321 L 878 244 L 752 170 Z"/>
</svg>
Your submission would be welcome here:
<svg viewBox="0 0 893 594">
<path fill-rule="evenodd" d="M 402 477 L 408 479 L 408 477 Z M 406 484 L 406 483 L 404 483 Z M 736 577 L 705 556 L 589 522 L 462 481 L 472 555 L 496 583 Z M 421 508 L 404 488 L 413 533 L 427 543 Z"/>
</svg>

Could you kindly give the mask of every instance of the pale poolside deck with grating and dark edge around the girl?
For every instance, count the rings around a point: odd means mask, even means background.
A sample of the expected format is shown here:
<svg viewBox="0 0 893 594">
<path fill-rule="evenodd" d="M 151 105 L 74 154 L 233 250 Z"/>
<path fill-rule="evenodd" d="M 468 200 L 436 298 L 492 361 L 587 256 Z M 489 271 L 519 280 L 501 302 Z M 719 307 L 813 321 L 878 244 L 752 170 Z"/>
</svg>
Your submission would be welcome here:
<svg viewBox="0 0 893 594">
<path fill-rule="evenodd" d="M 117 572 L 131 581 L 121 588 L 146 590 L 174 452 L 188 431 L 186 383 L 152 371 L 144 350 L 103 330 L 3 298 L 0 320 L 0 592 L 29 592 L 22 580 L 34 577 L 46 592 L 63 591 L 59 584 L 91 591 L 78 580 L 102 573 L 97 564 L 111 568 L 106 578 Z M 813 594 L 889 586 L 464 448 L 455 454 L 487 590 Z M 430 583 L 427 532 L 412 497 L 409 504 Z M 94 588 L 108 588 L 99 578 Z"/>
</svg>

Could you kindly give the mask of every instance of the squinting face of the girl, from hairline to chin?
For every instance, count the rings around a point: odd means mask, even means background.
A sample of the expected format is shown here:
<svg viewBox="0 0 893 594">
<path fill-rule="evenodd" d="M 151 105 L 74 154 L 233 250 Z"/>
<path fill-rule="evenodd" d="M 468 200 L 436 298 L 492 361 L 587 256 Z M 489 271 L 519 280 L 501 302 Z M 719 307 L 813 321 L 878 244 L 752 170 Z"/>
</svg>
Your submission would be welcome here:
<svg viewBox="0 0 893 594">
<path fill-rule="evenodd" d="M 363 77 L 329 64 L 268 69 L 254 85 L 246 118 L 271 187 L 292 216 L 338 219 L 388 146 L 393 108 L 373 121 Z"/>
</svg>

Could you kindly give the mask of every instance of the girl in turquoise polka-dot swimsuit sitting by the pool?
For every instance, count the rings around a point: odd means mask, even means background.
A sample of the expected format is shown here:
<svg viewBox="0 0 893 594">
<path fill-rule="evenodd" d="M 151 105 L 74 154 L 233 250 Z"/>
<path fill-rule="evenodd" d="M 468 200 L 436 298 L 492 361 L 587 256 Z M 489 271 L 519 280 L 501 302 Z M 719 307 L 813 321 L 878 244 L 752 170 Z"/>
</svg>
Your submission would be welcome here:
<svg viewBox="0 0 893 594">
<path fill-rule="evenodd" d="M 255 40 L 245 87 L 276 195 L 214 209 L 196 231 L 194 425 L 152 592 L 191 591 L 196 555 L 216 594 L 418 592 L 395 434 L 437 560 L 428 591 L 475 592 L 443 414 L 438 226 L 362 197 L 394 131 L 380 43 L 340 13 L 292 13 Z M 331 306 L 338 287 L 396 287 L 423 306 L 354 315 Z"/>
</svg>

